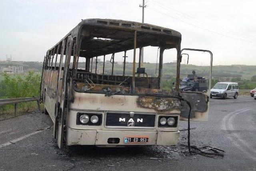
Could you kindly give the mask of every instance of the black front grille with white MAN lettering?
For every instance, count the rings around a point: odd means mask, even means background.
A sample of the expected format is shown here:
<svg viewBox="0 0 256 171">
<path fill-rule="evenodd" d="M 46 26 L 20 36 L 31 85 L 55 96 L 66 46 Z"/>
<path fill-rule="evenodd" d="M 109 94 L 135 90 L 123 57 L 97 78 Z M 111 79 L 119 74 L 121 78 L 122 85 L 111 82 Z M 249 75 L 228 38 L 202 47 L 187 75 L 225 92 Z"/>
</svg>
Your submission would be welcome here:
<svg viewBox="0 0 256 171">
<path fill-rule="evenodd" d="M 106 126 L 117 127 L 154 127 L 156 115 L 154 113 L 106 113 Z"/>
</svg>

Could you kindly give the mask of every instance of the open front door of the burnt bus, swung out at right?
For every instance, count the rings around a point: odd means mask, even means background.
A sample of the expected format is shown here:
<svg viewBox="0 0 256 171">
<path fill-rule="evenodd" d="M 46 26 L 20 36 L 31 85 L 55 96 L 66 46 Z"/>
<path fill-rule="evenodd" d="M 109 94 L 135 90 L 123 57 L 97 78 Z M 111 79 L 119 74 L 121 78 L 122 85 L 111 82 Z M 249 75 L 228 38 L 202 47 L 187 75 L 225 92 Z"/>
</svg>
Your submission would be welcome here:
<svg viewBox="0 0 256 171">
<path fill-rule="evenodd" d="M 194 79 L 191 77 L 188 78 L 189 82 L 195 82 L 203 84 L 203 82 L 208 83 L 207 89 L 203 91 L 198 91 L 198 89 L 193 89 L 193 87 L 188 91 L 179 91 L 182 98 L 188 101 L 191 105 L 191 112 L 190 112 L 190 120 L 192 121 L 208 121 L 208 113 L 209 113 L 209 99 L 210 99 L 210 91 L 211 91 L 211 78 L 212 78 L 212 52 L 209 50 L 200 50 L 200 49 L 190 49 L 184 48 L 181 50 L 180 60 L 182 62 L 182 55 L 185 57 L 187 55 L 187 60 L 189 60 L 189 54 L 182 54 L 182 51 L 199 51 L 199 52 L 208 52 L 210 54 L 210 71 L 209 71 L 209 78 L 204 78 L 202 76 L 196 76 L 194 72 Z M 190 59 L 191 60 L 191 59 Z M 184 74 L 184 73 L 183 73 Z M 188 73 L 189 74 L 189 73 Z M 193 74 L 192 77 L 193 77 Z M 205 79 L 205 80 L 204 80 Z M 206 80 L 208 79 L 208 80 Z M 193 84 L 192 84 L 193 85 Z M 180 114 L 180 120 L 188 120 L 189 115 L 189 106 L 186 102 L 182 101 L 182 108 Z"/>
</svg>

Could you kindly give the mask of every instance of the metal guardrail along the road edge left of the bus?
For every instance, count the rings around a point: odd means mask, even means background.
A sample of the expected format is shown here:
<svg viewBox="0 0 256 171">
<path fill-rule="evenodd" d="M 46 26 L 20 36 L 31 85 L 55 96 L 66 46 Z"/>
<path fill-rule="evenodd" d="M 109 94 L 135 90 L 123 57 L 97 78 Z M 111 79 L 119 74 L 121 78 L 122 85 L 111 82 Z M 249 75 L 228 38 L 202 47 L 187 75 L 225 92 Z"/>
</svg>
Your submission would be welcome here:
<svg viewBox="0 0 256 171">
<path fill-rule="evenodd" d="M 17 116 L 17 104 L 26 103 L 29 101 L 36 101 L 38 110 L 40 110 L 40 98 L 39 97 L 23 97 L 23 98 L 12 98 L 12 99 L 0 99 L 0 105 L 14 104 L 14 117 Z"/>
</svg>

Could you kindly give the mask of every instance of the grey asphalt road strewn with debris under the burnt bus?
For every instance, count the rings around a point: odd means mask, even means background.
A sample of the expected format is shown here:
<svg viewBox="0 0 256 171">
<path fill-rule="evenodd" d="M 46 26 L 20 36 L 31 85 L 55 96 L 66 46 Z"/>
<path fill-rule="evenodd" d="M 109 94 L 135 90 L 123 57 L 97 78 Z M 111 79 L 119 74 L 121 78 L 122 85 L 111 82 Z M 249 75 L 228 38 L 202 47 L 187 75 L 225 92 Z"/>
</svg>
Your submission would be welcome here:
<svg viewBox="0 0 256 171">
<path fill-rule="evenodd" d="M 256 100 L 211 99 L 208 122 L 191 122 L 191 145 L 211 145 L 224 157 L 190 155 L 187 131 L 177 146 L 137 148 L 65 147 L 58 149 L 51 121 L 28 113 L 0 121 L 2 170 L 249 170 L 256 171 Z M 180 129 L 187 122 L 181 121 Z"/>
</svg>

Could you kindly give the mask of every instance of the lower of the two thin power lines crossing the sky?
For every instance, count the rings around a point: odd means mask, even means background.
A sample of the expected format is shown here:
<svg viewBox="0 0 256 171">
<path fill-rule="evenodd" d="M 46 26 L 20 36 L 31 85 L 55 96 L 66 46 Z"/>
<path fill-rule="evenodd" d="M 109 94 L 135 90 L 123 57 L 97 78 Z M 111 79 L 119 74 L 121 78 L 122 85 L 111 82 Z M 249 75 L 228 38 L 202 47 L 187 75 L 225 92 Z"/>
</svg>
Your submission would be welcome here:
<svg viewBox="0 0 256 171">
<path fill-rule="evenodd" d="M 228 37 L 228 38 L 232 38 L 232 39 L 236 39 L 236 40 L 240 40 L 240 41 L 250 42 L 250 43 L 255 43 L 255 44 L 256 44 L 256 42 L 252 42 L 252 41 L 250 41 L 250 40 L 244 40 L 244 39 L 240 39 L 240 38 L 235 38 L 235 37 L 232 37 L 232 36 L 229 36 L 229 35 L 225 35 L 225 34 L 222 34 L 222 33 L 218 33 L 218 32 L 209 30 L 209 29 L 207 29 L 207 28 L 203 28 L 203 27 L 197 26 L 197 25 L 192 24 L 192 23 L 190 23 L 190 22 L 186 22 L 186 21 L 184 21 L 184 20 L 181 20 L 181 19 L 179 19 L 179 18 L 176 18 L 176 17 L 174 17 L 174 16 L 171 16 L 170 14 L 166 14 L 166 13 L 164 13 L 164 12 L 161 12 L 161 11 L 159 11 L 159 10 L 156 10 L 155 8 L 152 8 L 152 7 L 150 7 L 150 6 L 148 6 L 148 8 L 151 9 L 151 10 L 153 10 L 153 11 L 155 11 L 155 12 L 158 12 L 158 13 L 160 13 L 160 14 L 164 14 L 164 15 L 170 17 L 170 18 L 174 18 L 174 19 L 176 19 L 176 20 L 179 20 L 179 21 L 181 21 L 181 22 L 184 22 L 184 23 L 186 23 L 186 24 L 189 24 L 189 25 L 194 26 L 194 27 L 197 27 L 197 28 L 201 28 L 201 29 L 206 30 L 206 31 L 208 31 L 208 32 L 212 32 L 212 33 L 215 33 L 215 34 L 218 34 L 218 35 L 221 35 L 221 36 L 225 36 L 225 37 Z"/>
</svg>

